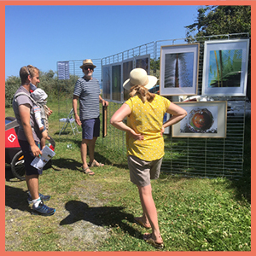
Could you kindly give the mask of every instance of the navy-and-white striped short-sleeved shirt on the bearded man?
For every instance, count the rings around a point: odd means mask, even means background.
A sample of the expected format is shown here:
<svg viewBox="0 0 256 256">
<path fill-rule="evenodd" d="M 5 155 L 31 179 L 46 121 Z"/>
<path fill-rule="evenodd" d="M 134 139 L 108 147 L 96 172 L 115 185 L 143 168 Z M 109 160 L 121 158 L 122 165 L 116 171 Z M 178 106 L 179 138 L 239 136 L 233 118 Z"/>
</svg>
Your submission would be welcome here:
<svg viewBox="0 0 256 256">
<path fill-rule="evenodd" d="M 79 96 L 80 119 L 94 119 L 100 115 L 99 95 L 101 93 L 99 81 L 95 78 L 77 80 L 73 95 Z"/>
</svg>

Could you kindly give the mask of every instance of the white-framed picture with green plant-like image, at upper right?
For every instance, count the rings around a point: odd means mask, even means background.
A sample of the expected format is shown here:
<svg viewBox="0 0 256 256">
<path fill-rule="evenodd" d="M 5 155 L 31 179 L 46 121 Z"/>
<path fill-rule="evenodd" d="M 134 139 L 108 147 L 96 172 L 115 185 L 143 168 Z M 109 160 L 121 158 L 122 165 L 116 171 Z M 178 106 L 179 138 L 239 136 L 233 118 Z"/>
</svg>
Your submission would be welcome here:
<svg viewBox="0 0 256 256">
<path fill-rule="evenodd" d="M 202 95 L 246 96 L 249 39 L 205 42 Z"/>
</svg>

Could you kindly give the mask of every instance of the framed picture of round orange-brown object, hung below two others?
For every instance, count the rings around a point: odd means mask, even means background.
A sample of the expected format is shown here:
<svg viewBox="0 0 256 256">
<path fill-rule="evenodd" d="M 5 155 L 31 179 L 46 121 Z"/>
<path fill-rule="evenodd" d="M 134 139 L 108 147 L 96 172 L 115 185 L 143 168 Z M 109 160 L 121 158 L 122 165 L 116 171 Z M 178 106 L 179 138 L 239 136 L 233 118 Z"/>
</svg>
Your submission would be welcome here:
<svg viewBox="0 0 256 256">
<path fill-rule="evenodd" d="M 172 137 L 226 137 L 227 102 L 174 102 L 188 115 L 172 125 Z"/>
</svg>

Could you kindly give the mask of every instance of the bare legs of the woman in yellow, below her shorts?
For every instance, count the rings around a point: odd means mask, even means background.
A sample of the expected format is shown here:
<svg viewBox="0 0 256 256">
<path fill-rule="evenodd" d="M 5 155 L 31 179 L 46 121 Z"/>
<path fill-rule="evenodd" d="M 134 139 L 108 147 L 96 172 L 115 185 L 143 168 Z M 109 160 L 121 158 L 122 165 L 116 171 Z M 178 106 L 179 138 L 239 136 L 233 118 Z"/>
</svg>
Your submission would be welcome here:
<svg viewBox="0 0 256 256">
<path fill-rule="evenodd" d="M 151 184 L 145 187 L 137 186 L 142 207 L 143 207 L 143 217 L 145 221 L 149 221 L 152 228 L 152 238 L 154 241 L 161 243 L 163 242 L 160 236 L 160 228 L 158 224 L 157 212 L 154 205 L 154 200 L 152 197 Z"/>
</svg>

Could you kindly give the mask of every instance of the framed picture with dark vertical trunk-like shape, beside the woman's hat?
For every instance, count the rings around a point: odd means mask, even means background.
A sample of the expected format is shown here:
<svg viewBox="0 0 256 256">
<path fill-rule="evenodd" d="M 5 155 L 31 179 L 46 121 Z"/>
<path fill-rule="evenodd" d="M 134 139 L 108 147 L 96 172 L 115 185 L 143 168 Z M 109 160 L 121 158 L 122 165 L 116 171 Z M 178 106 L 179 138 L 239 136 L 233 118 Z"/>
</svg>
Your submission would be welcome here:
<svg viewBox="0 0 256 256">
<path fill-rule="evenodd" d="M 199 43 L 161 46 L 160 95 L 197 94 Z"/>
</svg>

